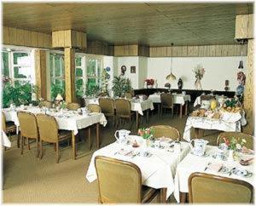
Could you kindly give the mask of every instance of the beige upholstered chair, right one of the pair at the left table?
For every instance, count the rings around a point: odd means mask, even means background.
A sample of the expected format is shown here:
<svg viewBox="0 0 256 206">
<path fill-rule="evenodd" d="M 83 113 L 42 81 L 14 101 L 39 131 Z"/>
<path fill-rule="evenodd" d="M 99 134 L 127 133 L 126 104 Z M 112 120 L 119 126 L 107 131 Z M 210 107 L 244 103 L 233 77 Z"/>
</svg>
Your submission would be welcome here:
<svg viewBox="0 0 256 206">
<path fill-rule="evenodd" d="M 71 139 L 71 131 L 58 130 L 55 117 L 38 114 L 38 130 L 40 134 L 40 159 L 43 157 L 43 141 L 54 143 L 56 151 L 56 163 L 59 163 L 59 142 Z"/>
</svg>

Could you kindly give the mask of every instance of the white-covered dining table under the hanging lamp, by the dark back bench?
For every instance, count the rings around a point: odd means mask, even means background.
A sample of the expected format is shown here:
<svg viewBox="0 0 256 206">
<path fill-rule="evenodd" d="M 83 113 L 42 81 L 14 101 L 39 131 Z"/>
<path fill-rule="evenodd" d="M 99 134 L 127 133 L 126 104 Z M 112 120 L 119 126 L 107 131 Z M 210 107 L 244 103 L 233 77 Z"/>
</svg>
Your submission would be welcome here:
<svg viewBox="0 0 256 206">
<path fill-rule="evenodd" d="M 188 114 L 188 102 L 191 100 L 189 94 L 172 94 L 173 95 L 173 104 L 179 105 L 179 117 L 183 117 L 183 106 L 185 106 L 185 115 Z M 160 113 L 160 93 L 150 94 L 148 96 L 149 100 L 152 100 L 153 103 L 158 104 L 158 113 Z"/>
</svg>

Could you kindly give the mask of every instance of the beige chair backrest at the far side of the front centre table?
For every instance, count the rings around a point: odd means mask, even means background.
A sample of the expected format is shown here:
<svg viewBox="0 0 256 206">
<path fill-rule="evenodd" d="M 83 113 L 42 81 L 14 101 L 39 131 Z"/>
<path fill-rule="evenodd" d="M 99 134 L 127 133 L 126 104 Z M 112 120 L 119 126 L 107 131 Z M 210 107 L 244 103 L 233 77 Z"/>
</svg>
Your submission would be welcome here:
<svg viewBox="0 0 256 206">
<path fill-rule="evenodd" d="M 168 125 L 156 125 L 150 128 L 153 129 L 153 136 L 156 138 L 165 136 L 166 138 L 170 138 L 172 140 L 180 140 L 180 134 L 176 128 Z"/>
</svg>

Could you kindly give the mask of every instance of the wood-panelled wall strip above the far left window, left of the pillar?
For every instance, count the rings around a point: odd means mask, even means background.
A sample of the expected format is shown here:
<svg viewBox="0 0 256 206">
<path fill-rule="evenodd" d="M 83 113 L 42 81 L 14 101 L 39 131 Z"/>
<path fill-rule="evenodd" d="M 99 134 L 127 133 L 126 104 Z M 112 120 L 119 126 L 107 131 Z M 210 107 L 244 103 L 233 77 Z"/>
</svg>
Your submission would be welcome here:
<svg viewBox="0 0 256 206">
<path fill-rule="evenodd" d="M 3 26 L 3 44 L 50 49 L 51 35 Z"/>
</svg>

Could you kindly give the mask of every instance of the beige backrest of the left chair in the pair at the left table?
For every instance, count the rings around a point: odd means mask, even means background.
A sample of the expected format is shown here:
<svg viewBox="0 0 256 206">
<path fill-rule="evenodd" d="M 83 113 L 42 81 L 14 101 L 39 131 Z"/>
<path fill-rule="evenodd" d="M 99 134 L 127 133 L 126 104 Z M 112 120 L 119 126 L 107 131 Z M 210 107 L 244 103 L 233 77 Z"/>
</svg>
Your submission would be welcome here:
<svg viewBox="0 0 256 206">
<path fill-rule="evenodd" d="M 38 139 L 37 117 L 31 112 L 18 112 L 20 134 L 27 138 Z"/>
</svg>

